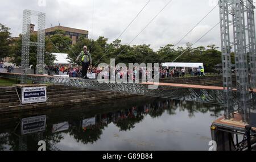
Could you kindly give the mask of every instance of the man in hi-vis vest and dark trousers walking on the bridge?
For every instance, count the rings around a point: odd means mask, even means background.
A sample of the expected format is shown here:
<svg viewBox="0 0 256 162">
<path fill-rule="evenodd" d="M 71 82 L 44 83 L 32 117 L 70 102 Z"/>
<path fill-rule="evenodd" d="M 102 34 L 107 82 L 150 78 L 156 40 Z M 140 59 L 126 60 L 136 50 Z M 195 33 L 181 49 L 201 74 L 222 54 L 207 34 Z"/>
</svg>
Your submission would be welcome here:
<svg viewBox="0 0 256 162">
<path fill-rule="evenodd" d="M 84 50 L 81 51 L 80 55 L 77 56 L 76 61 L 80 60 L 82 61 L 82 78 L 89 79 L 87 77 L 87 71 L 90 65 L 92 65 L 92 56 L 90 55 L 90 52 L 87 51 L 87 47 L 84 46 Z"/>
</svg>

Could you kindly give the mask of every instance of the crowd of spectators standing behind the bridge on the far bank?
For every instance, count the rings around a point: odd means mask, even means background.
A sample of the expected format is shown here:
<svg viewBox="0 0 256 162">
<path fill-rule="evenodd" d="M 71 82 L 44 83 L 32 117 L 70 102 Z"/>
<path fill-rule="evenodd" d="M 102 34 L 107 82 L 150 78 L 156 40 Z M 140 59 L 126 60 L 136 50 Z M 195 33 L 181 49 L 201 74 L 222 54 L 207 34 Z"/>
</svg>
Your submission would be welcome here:
<svg viewBox="0 0 256 162">
<path fill-rule="evenodd" d="M 139 70 L 137 67 L 135 67 L 133 70 L 117 68 L 117 67 L 108 67 L 109 72 L 105 71 L 104 74 L 102 74 L 102 78 L 111 78 L 114 76 L 117 76 L 118 78 L 122 79 L 125 76 L 127 76 L 127 79 L 129 78 L 130 74 L 133 74 L 131 78 L 135 80 L 135 76 L 139 73 L 139 78 L 147 78 L 148 76 L 154 77 L 154 68 L 153 69 L 147 69 L 147 68 L 140 68 Z M 110 70 L 114 69 L 115 73 L 112 74 L 113 76 L 110 76 Z M 82 73 L 82 67 L 79 65 L 54 65 L 54 66 L 48 66 L 46 67 L 46 70 L 48 70 L 48 74 L 56 75 L 68 75 L 69 77 L 81 77 Z M 97 68 L 90 66 L 88 68 L 88 73 L 92 74 L 95 73 L 96 78 L 98 74 L 100 74 L 104 70 L 104 68 Z M 184 68 L 159 68 L 159 78 L 177 78 L 177 77 L 185 77 L 185 74 L 187 74 L 187 70 Z M 188 70 L 188 74 L 191 76 L 204 76 L 204 71 L 202 68 L 190 68 Z"/>
</svg>

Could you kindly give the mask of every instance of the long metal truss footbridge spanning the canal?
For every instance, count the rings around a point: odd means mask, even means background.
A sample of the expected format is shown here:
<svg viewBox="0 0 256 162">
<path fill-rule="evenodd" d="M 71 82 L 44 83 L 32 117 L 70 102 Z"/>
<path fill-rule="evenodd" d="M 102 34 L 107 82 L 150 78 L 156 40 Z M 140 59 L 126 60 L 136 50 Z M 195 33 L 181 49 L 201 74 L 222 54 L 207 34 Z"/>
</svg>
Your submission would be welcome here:
<svg viewBox="0 0 256 162">
<path fill-rule="evenodd" d="M 0 73 L 5 78 L 19 79 L 22 74 L 19 73 Z M 86 88 L 92 90 L 102 90 L 108 92 L 120 92 L 136 95 L 146 95 L 148 97 L 161 97 L 170 99 L 179 99 L 185 101 L 212 103 L 224 105 L 224 88 L 218 86 L 201 86 L 185 84 L 164 84 L 159 83 L 158 89 L 150 90 L 148 85 L 152 83 L 99 83 L 97 80 L 83 80 L 81 78 L 55 77 L 44 75 L 27 75 L 27 80 L 41 84 L 53 84 Z M 237 103 L 236 89 L 233 89 L 234 103 Z M 255 94 L 256 90 L 251 90 Z"/>
</svg>

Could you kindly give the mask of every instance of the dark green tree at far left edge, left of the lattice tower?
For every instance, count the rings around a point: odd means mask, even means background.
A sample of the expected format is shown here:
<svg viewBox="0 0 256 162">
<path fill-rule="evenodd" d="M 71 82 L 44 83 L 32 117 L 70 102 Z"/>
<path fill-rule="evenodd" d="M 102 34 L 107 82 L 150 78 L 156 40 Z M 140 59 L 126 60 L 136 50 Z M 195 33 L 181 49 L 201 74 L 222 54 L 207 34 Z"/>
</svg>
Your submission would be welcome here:
<svg viewBox="0 0 256 162">
<path fill-rule="evenodd" d="M 11 52 L 10 28 L 0 23 L 0 59 L 9 56 Z"/>
</svg>

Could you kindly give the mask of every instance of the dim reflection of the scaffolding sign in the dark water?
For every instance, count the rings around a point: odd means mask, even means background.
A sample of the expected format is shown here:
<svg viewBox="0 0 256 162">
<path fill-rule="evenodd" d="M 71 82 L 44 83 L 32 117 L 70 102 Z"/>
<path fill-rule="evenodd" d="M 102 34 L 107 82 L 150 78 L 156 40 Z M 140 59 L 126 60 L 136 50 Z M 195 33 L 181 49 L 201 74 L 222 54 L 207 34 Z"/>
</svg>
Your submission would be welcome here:
<svg viewBox="0 0 256 162">
<path fill-rule="evenodd" d="M 46 130 L 46 115 L 22 119 L 22 135 Z"/>
</svg>

